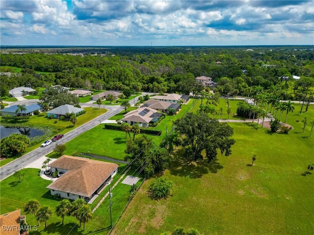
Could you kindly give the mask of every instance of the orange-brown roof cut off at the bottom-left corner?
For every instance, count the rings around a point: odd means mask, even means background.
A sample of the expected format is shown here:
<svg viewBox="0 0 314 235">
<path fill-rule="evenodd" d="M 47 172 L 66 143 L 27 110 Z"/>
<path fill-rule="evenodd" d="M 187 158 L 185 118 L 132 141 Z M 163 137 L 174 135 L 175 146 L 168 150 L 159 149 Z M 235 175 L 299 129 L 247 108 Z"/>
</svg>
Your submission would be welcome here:
<svg viewBox="0 0 314 235">
<path fill-rule="evenodd" d="M 25 219 L 25 215 L 23 218 Z M 20 235 L 21 210 L 11 211 L 0 215 L 1 235 Z"/>
</svg>

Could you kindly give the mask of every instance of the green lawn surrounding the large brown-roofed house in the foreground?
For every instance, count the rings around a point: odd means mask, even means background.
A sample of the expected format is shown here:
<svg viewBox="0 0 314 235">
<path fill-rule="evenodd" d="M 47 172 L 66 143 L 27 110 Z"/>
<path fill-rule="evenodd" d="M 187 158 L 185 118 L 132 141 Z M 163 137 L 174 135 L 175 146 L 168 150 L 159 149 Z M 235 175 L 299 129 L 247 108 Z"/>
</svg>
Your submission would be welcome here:
<svg viewBox="0 0 314 235">
<path fill-rule="evenodd" d="M 119 167 L 118 175 L 114 177 L 111 187 L 120 178 L 120 172 L 125 168 L 125 165 Z M 51 181 L 44 180 L 39 176 L 39 169 L 25 168 L 23 170 L 25 177 L 22 183 L 19 183 L 14 176 L 10 176 L 7 179 L 1 181 L 1 214 L 15 211 L 17 209 L 22 209 L 21 213 L 24 214 L 23 206 L 30 199 L 36 199 L 42 206 L 48 206 L 52 208 L 52 217 L 47 222 L 47 229 L 44 227 L 44 223 L 41 223 L 39 230 L 30 234 L 33 235 L 64 235 L 68 234 L 70 230 L 74 227 L 71 235 L 82 235 L 82 234 L 97 234 L 99 231 L 109 231 L 110 228 L 110 214 L 108 211 L 108 198 L 105 199 L 103 204 L 93 213 L 93 218 L 86 223 L 86 231 L 83 232 L 82 228 L 78 227 L 78 220 L 72 216 L 65 217 L 64 226 L 61 225 L 61 218 L 56 215 L 55 208 L 61 201 L 61 199 L 55 199 L 51 194 L 50 190 L 46 187 L 51 184 Z M 134 173 L 134 170 L 130 170 L 127 175 Z M 136 173 L 136 172 L 135 172 Z M 141 181 L 137 184 L 139 185 Z M 130 186 L 118 183 L 118 185 L 112 190 L 112 217 L 113 221 L 117 221 L 119 215 L 121 214 L 124 206 L 129 199 Z M 27 193 L 21 193 L 22 191 Z M 100 199 L 108 191 L 108 187 L 101 193 L 100 196 L 91 205 L 94 208 Z M 30 226 L 37 225 L 34 215 L 26 215 L 27 224 Z"/>
</svg>

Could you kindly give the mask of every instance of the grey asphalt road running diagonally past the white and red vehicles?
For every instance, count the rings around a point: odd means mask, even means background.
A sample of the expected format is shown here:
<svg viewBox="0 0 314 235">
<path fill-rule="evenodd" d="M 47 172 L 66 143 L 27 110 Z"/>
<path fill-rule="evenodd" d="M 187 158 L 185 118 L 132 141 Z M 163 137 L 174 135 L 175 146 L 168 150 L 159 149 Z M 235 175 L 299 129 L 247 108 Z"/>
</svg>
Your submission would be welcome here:
<svg viewBox="0 0 314 235">
<path fill-rule="evenodd" d="M 17 103 L 30 104 L 31 102 L 34 102 L 34 100 L 23 100 L 23 101 L 17 101 L 17 102 L 14 102 L 14 104 L 17 104 Z M 35 103 L 37 103 L 37 101 Z M 135 102 L 133 99 L 130 101 L 131 106 L 133 106 L 133 104 L 136 103 L 137 101 L 138 101 L 138 96 L 135 97 Z M 97 107 L 97 108 L 99 107 L 97 104 L 80 103 L 80 105 L 81 107 Z M 106 119 L 116 115 L 117 113 L 123 110 L 123 108 L 121 108 L 120 105 L 101 105 L 101 108 L 107 109 L 108 112 L 66 133 L 62 139 L 52 142 L 52 144 L 48 145 L 47 147 L 36 148 L 35 150 L 29 153 L 26 153 L 22 157 L 0 167 L 0 181 L 14 174 L 15 171 L 21 170 L 24 166 L 36 161 L 41 156 L 47 155 L 48 153 L 52 152 L 56 143 L 60 144 L 60 143 L 66 143 L 68 141 L 71 141 L 74 138 L 76 138 L 78 135 L 82 134 L 83 132 L 99 125 L 102 121 L 105 121 Z M 88 144 L 88 140 L 86 140 L 86 142 L 82 144 Z"/>
</svg>

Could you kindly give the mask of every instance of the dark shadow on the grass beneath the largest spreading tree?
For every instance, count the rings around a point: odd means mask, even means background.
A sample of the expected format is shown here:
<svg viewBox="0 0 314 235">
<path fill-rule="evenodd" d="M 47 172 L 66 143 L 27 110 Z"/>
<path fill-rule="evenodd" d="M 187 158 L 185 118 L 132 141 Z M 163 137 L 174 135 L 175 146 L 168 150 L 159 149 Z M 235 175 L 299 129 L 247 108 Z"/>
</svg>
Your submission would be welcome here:
<svg viewBox="0 0 314 235">
<path fill-rule="evenodd" d="M 183 150 L 178 150 L 174 154 L 173 161 L 169 168 L 172 175 L 178 175 L 189 178 L 201 178 L 207 173 L 217 173 L 223 166 L 217 159 L 211 160 L 210 163 L 207 160 L 200 160 L 192 162 L 190 159 L 185 159 L 183 156 Z"/>
</svg>

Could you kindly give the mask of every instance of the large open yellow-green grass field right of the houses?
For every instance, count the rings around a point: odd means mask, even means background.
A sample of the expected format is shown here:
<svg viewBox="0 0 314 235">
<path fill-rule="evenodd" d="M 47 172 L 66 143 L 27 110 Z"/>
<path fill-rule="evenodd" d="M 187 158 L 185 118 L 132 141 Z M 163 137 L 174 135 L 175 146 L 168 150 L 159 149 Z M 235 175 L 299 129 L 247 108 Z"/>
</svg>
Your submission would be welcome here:
<svg viewBox="0 0 314 235">
<path fill-rule="evenodd" d="M 177 226 L 204 235 L 314 234 L 314 174 L 301 175 L 314 162 L 314 135 L 230 125 L 236 141 L 231 156 L 195 164 L 178 151 L 165 171 L 174 182 L 173 195 L 150 199 L 151 180 L 146 181 L 112 234 L 158 235 Z M 253 154 L 257 160 L 251 166 Z"/>
</svg>

